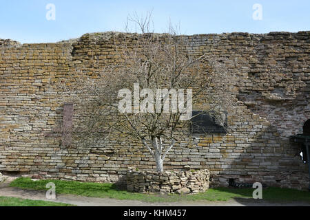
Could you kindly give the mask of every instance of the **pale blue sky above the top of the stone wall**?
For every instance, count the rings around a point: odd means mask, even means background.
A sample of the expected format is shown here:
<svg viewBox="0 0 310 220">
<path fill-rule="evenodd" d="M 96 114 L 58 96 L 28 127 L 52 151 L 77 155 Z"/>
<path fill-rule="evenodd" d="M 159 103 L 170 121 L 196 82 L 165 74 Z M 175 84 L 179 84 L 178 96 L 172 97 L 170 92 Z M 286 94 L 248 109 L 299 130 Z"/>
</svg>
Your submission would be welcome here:
<svg viewBox="0 0 310 220">
<path fill-rule="evenodd" d="M 309 0 L 0 0 L 0 39 L 52 43 L 124 32 L 128 14 L 151 10 L 155 32 L 167 32 L 169 21 L 187 35 L 310 30 Z"/>
</svg>

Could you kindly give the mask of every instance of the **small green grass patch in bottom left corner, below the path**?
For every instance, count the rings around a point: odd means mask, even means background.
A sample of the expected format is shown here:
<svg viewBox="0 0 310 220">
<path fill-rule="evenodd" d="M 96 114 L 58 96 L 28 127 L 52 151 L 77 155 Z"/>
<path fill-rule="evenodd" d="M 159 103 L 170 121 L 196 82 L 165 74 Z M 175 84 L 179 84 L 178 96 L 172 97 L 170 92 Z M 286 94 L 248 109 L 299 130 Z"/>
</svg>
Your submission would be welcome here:
<svg viewBox="0 0 310 220">
<path fill-rule="evenodd" d="M 52 201 L 19 199 L 14 197 L 0 197 L 0 206 L 72 206 L 72 205 Z"/>
</svg>

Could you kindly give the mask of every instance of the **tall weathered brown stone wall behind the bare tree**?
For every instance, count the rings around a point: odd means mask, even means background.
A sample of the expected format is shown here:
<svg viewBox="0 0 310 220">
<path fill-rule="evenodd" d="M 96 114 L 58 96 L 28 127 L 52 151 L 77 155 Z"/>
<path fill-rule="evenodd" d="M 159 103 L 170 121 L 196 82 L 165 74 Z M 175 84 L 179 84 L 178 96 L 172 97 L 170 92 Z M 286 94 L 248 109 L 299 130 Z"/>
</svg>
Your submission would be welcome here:
<svg viewBox="0 0 310 220">
<path fill-rule="evenodd" d="M 229 132 L 187 137 L 167 155 L 166 170 L 209 169 L 212 186 L 228 179 L 307 188 L 307 164 L 289 135 L 302 133 L 310 118 L 310 32 L 199 34 L 180 36 L 190 56 L 227 58 L 226 82 L 237 109 Z M 114 37 L 111 37 L 114 36 Z M 122 36 L 122 37 L 121 37 Z M 135 34 L 126 35 L 134 45 Z M 85 34 L 63 43 L 19 44 L 0 40 L 0 170 L 41 173 L 79 181 L 118 181 L 128 166 L 155 168 L 139 142 L 113 138 L 100 145 L 61 148 L 63 104 L 74 103 L 74 118 L 89 94 L 72 94 L 76 78 L 93 78 L 107 63 L 120 62 L 123 34 Z M 234 61 L 234 62 L 231 62 Z M 220 84 L 218 84 L 220 91 Z M 186 131 L 185 131 L 186 133 Z M 76 147 L 74 147 L 76 146 Z"/>
</svg>

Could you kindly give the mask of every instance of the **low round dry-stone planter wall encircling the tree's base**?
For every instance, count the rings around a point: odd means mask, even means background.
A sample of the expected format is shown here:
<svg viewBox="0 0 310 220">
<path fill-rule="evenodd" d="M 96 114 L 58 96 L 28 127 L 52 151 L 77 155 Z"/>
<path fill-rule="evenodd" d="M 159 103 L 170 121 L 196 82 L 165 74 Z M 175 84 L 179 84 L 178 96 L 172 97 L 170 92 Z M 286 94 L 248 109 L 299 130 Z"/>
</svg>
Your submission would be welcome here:
<svg viewBox="0 0 310 220">
<path fill-rule="evenodd" d="M 205 192 L 209 188 L 209 170 L 196 171 L 140 171 L 127 170 L 127 190 L 130 192 L 159 192 L 188 194 Z"/>
</svg>

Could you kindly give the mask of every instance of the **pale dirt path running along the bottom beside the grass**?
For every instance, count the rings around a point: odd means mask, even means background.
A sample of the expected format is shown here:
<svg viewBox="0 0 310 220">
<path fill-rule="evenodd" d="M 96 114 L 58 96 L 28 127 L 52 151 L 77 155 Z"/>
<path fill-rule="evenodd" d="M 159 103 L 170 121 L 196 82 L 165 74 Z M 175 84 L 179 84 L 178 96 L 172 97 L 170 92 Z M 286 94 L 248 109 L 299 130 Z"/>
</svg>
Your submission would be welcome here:
<svg viewBox="0 0 310 220">
<path fill-rule="evenodd" d="M 135 200 L 118 200 L 110 198 L 84 197 L 79 195 L 56 195 L 56 199 L 47 199 L 43 190 L 28 190 L 9 187 L 10 181 L 16 177 L 6 176 L 0 183 L 0 196 L 17 197 L 21 199 L 34 199 L 69 203 L 76 206 L 310 206 L 305 202 L 270 203 L 260 199 L 236 198 L 229 201 L 183 201 L 167 203 L 149 203 Z"/>
</svg>

